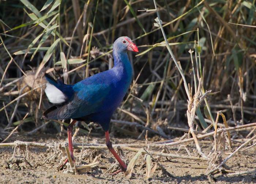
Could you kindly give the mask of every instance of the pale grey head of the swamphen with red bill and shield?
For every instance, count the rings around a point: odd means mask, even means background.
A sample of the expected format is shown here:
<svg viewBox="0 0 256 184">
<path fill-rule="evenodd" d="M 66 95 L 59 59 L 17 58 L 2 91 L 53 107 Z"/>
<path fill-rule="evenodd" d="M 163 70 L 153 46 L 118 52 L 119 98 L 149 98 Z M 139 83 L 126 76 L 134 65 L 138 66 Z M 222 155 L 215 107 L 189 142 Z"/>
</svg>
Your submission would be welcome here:
<svg viewBox="0 0 256 184">
<path fill-rule="evenodd" d="M 120 52 L 126 52 L 128 50 L 138 52 L 137 46 L 132 42 L 129 37 L 119 37 L 113 44 L 113 49 L 116 49 Z"/>
</svg>

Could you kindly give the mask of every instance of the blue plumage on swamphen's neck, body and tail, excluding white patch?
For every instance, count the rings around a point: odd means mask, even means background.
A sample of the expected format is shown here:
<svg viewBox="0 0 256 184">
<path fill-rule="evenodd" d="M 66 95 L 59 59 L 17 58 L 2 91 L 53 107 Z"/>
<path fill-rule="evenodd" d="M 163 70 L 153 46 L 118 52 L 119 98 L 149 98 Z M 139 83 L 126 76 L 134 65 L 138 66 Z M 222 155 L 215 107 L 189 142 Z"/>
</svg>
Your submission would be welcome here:
<svg viewBox="0 0 256 184">
<path fill-rule="evenodd" d="M 120 37 L 122 39 L 122 37 Z M 132 81 L 132 67 L 127 49 L 118 39 L 113 45 L 114 67 L 74 84 L 65 85 L 46 76 L 48 82 L 60 89 L 67 101 L 45 114 L 45 119 L 89 120 L 101 124 L 106 131 L 110 118 L 123 100 Z"/>
</svg>

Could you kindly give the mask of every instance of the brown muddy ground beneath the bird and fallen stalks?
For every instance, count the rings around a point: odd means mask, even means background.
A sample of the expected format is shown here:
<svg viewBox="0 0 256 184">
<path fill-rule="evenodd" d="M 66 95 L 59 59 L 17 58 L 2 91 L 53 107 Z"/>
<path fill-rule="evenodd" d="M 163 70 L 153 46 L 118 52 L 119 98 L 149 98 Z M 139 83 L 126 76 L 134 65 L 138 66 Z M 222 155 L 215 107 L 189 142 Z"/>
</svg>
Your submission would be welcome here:
<svg viewBox="0 0 256 184">
<path fill-rule="evenodd" d="M 137 141 L 136 139 L 125 138 L 121 139 L 114 137 L 110 134 L 113 143 L 144 143 L 144 141 Z M 10 142 L 20 140 L 20 141 L 30 141 L 30 142 L 43 142 L 43 143 L 61 143 L 65 142 L 65 137 L 52 137 L 48 135 L 37 135 L 30 137 L 15 137 L 10 139 Z M 154 142 L 155 139 L 149 139 L 150 142 Z M 75 139 L 75 142 L 82 143 L 82 137 Z M 105 138 L 102 136 L 100 138 L 95 137 L 85 137 L 85 143 L 104 143 Z M 240 144 L 241 145 L 241 144 Z M 202 150 L 205 153 L 209 153 L 212 144 L 202 143 Z M 237 146 L 234 145 L 232 149 L 225 150 L 222 157 L 226 158 L 228 154 L 233 152 Z M 187 149 L 191 153 L 191 156 L 198 156 L 193 152 L 195 149 L 194 143 L 189 143 L 186 145 Z M 179 146 L 169 147 L 170 153 L 188 155 L 186 150 L 182 148 L 178 153 Z M 156 151 L 156 149 L 154 149 Z M 157 151 L 161 152 L 161 148 Z M 255 157 L 256 147 L 246 150 L 245 152 L 238 152 L 234 157 L 227 161 L 227 166 L 229 170 L 239 172 L 253 170 L 256 167 L 256 157 Z M 55 153 L 54 153 L 55 152 Z M 208 164 L 206 161 L 196 161 L 187 159 L 173 159 L 166 157 L 159 157 L 158 161 L 161 163 L 165 169 L 171 173 L 174 177 L 169 177 L 163 174 L 162 170 L 157 167 L 153 176 L 144 180 L 146 173 L 146 166 L 144 162 L 144 155 L 139 157 L 136 162 L 135 170 L 133 170 L 134 176 L 131 179 L 125 179 L 124 173 L 118 173 L 115 176 L 111 176 L 118 169 L 116 160 L 112 157 L 108 150 L 84 150 L 82 156 L 82 164 L 89 164 L 93 162 L 95 156 L 99 157 L 98 161 L 100 164 L 88 170 L 85 173 L 76 175 L 75 173 L 69 173 L 69 166 L 63 170 L 57 170 L 57 166 L 64 159 L 64 152 L 61 149 L 48 150 L 46 148 L 40 147 L 29 147 L 29 155 L 27 155 L 26 147 L 23 149 L 16 148 L 14 157 L 14 148 L 0 147 L 0 183 L 7 184 L 18 184 L 18 183 L 256 183 L 256 179 L 253 175 L 240 175 L 240 176 L 228 176 L 226 173 L 217 173 L 213 177 L 207 177 L 206 171 Z M 128 161 L 136 154 L 135 152 L 124 151 L 124 160 Z M 63 157 L 62 157 L 63 155 Z M 75 150 L 74 155 L 76 158 L 80 157 L 80 150 Z M 52 156 L 52 157 L 51 157 Z M 29 158 L 27 158 L 29 157 Z M 157 156 L 154 156 L 157 158 Z M 24 158 L 27 158 L 26 160 Z M 48 160 L 47 160 L 48 158 Z M 27 161 L 27 162 L 26 162 Z M 154 163 L 151 162 L 151 165 Z M 107 170 L 111 167 L 112 169 Z"/>
</svg>

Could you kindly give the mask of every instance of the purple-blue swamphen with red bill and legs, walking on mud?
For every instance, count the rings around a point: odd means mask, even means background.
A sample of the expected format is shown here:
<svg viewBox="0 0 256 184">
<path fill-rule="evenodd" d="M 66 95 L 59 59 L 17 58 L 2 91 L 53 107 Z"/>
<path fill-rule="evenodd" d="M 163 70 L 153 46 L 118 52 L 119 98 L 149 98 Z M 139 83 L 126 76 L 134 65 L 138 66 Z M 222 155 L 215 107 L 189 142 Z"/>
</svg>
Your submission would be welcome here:
<svg viewBox="0 0 256 184">
<path fill-rule="evenodd" d="M 132 81 L 132 66 L 127 51 L 138 52 L 137 46 L 128 37 L 120 37 L 113 44 L 114 67 L 105 72 L 67 85 L 54 80 L 48 74 L 45 93 L 54 104 L 44 112 L 44 119 L 73 119 L 69 124 L 68 146 L 74 160 L 72 130 L 77 120 L 99 123 L 105 131 L 106 145 L 125 172 L 127 166 L 117 155 L 109 139 L 109 123 L 113 112 L 123 100 Z M 68 159 L 64 162 L 65 165 Z"/>
</svg>

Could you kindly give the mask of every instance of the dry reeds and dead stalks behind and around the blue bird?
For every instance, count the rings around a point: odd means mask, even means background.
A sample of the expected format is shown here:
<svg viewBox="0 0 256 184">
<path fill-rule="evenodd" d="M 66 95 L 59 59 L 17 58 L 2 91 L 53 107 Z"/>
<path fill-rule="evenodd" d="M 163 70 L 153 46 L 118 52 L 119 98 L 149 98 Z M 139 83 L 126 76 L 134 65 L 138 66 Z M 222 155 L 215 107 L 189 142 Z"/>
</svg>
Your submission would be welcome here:
<svg viewBox="0 0 256 184">
<path fill-rule="evenodd" d="M 209 181 L 219 174 L 255 177 L 255 168 L 238 171 L 226 163 L 256 145 L 255 1 L 47 2 L 0 1 L 0 146 L 14 147 L 5 168 L 33 167 L 32 147 L 46 149 L 43 164 L 69 156 L 63 142 L 18 141 L 19 135 L 61 135 L 69 123 L 41 119 L 49 107 L 43 75 L 52 72 L 73 84 L 107 70 L 113 66 L 111 44 L 127 35 L 140 53 L 130 55 L 133 83 L 111 131 L 138 140 L 146 134 L 146 143 L 113 145 L 127 161 L 125 177 L 136 178 L 138 162 L 143 179 L 155 179 L 157 169 L 159 178 L 175 177 L 163 158 L 203 162 Z M 94 123 L 80 122 L 76 129 L 79 135 L 101 135 Z M 106 146 L 82 142 L 74 144 L 80 154 L 64 171 L 106 169 Z M 108 173 L 116 170 L 118 164 Z"/>
</svg>

